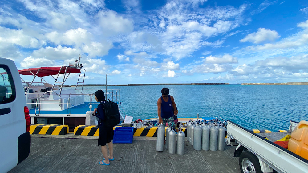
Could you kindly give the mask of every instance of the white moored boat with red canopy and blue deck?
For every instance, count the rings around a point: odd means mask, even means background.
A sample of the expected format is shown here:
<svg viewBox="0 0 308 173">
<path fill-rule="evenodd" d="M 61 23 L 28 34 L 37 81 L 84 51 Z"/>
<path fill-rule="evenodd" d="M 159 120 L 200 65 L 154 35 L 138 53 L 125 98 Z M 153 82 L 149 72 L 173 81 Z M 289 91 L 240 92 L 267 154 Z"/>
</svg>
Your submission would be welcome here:
<svg viewBox="0 0 308 173">
<path fill-rule="evenodd" d="M 39 67 L 18 70 L 24 86 L 27 107 L 30 110 L 31 124 L 66 124 L 69 131 L 73 131 L 78 125 L 90 125 L 87 111 L 93 111 L 96 90 L 84 89 L 84 78 L 86 70 L 79 60 L 61 67 Z M 74 74 L 78 76 L 75 87 L 67 87 L 64 83 L 67 78 Z M 25 81 L 23 77 L 32 81 Z M 3 80 L 7 80 L 2 74 Z M 45 78 L 51 78 L 53 83 L 48 83 Z M 38 81 L 39 80 L 39 81 Z M 107 79 L 106 79 L 107 81 Z M 105 97 L 116 102 L 120 112 L 120 122 L 125 117 L 125 110 L 121 105 L 120 90 L 108 89 L 106 85 Z M 97 123 L 97 120 L 95 120 Z M 93 123 L 91 123 L 93 124 Z"/>
</svg>

